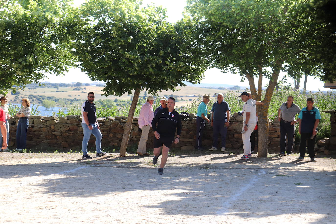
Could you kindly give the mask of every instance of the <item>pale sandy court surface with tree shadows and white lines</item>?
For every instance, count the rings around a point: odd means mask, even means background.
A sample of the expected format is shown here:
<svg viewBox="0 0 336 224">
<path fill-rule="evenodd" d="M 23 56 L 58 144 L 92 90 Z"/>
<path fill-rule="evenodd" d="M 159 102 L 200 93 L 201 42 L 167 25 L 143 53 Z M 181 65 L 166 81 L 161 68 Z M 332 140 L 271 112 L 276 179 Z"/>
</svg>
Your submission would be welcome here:
<svg viewBox="0 0 336 224">
<path fill-rule="evenodd" d="M 204 153 L 161 176 L 153 156 L 2 152 L 0 222 L 335 223 L 335 159 Z"/>
</svg>

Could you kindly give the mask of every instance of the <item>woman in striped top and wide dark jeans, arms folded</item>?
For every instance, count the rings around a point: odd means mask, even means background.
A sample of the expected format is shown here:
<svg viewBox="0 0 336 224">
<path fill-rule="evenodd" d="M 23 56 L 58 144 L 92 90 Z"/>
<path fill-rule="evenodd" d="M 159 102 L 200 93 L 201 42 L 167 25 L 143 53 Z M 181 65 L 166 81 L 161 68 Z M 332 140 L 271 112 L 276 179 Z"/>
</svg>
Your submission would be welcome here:
<svg viewBox="0 0 336 224">
<path fill-rule="evenodd" d="M 27 142 L 27 130 L 29 121 L 28 118 L 30 116 L 30 101 L 27 98 L 22 99 L 23 107 L 16 114 L 19 117 L 19 121 L 17 122 L 16 128 L 16 151 L 22 151 L 26 148 Z"/>
</svg>

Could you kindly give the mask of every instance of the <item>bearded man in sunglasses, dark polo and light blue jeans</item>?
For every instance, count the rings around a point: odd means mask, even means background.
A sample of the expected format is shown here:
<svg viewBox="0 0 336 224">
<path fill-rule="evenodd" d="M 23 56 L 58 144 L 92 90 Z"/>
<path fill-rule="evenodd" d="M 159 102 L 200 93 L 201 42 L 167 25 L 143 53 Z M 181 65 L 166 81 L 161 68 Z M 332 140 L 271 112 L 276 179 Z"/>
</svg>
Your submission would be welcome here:
<svg viewBox="0 0 336 224">
<path fill-rule="evenodd" d="M 96 137 L 96 156 L 105 155 L 106 152 L 101 151 L 101 139 L 102 134 L 99 130 L 99 125 L 97 122 L 97 115 L 96 115 L 96 105 L 93 103 L 94 100 L 94 93 L 89 92 L 87 96 L 87 100 L 82 104 L 82 127 L 83 127 L 83 141 L 82 141 L 82 151 L 83 156 L 82 159 L 92 159 L 90 155 L 87 154 L 87 142 L 90 139 L 91 134 Z"/>
</svg>

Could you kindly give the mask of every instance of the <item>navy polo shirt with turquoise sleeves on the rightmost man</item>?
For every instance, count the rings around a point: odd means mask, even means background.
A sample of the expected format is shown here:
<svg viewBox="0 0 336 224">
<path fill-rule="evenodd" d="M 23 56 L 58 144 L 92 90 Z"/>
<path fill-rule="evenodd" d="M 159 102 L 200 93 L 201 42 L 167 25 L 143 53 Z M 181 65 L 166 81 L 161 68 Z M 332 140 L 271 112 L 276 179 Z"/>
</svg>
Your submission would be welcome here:
<svg viewBox="0 0 336 224">
<path fill-rule="evenodd" d="M 317 119 L 321 119 L 320 110 L 313 107 L 308 110 L 307 107 L 302 108 L 299 114 L 301 121 L 301 133 L 312 133 Z M 316 129 L 317 130 L 317 129 Z"/>
</svg>

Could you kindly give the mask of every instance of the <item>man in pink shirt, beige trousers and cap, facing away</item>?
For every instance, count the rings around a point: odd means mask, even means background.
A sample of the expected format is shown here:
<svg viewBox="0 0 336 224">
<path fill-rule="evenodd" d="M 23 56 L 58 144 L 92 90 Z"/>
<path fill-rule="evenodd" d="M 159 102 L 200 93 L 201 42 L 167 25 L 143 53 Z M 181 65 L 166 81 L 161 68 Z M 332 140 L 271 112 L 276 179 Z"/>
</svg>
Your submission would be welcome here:
<svg viewBox="0 0 336 224">
<path fill-rule="evenodd" d="M 138 119 L 139 128 L 141 128 L 142 134 L 139 141 L 138 149 L 136 150 L 136 153 L 140 156 L 144 155 L 150 155 L 146 152 L 147 150 L 147 139 L 148 139 L 148 133 L 149 129 L 152 127 L 152 120 L 154 118 L 154 111 L 153 111 L 153 103 L 154 103 L 154 97 L 148 96 L 147 101 L 142 104 L 140 115 Z"/>
</svg>

